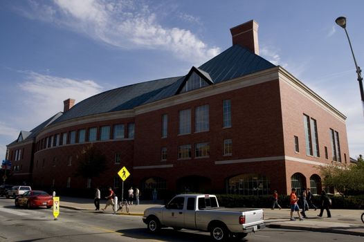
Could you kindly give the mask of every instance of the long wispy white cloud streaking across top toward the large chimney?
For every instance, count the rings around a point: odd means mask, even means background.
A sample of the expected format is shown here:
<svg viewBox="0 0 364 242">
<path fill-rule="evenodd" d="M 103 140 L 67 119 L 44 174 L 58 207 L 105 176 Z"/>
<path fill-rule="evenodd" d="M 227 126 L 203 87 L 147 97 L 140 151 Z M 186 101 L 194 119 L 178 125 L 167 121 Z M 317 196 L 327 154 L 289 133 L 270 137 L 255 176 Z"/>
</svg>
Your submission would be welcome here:
<svg viewBox="0 0 364 242">
<path fill-rule="evenodd" d="M 156 18 L 158 12 L 143 1 L 54 0 L 54 6 L 30 3 L 35 10 L 33 18 L 39 16 L 43 21 L 71 28 L 118 48 L 167 50 L 194 64 L 201 64 L 221 51 L 205 44 L 190 30 L 163 27 Z M 190 15 L 183 17 L 199 21 Z"/>
</svg>

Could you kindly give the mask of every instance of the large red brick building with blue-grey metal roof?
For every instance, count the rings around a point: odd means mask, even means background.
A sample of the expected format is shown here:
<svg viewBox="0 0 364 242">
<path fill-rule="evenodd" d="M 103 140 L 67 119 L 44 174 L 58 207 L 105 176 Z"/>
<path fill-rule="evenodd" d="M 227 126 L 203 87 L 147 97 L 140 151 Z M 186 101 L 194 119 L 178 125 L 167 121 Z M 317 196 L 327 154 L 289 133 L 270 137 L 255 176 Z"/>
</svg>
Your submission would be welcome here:
<svg viewBox="0 0 364 242">
<path fill-rule="evenodd" d="M 66 100 L 64 112 L 8 145 L 11 182 L 120 187 L 117 172 L 125 166 L 126 186 L 143 194 L 320 192 L 318 167 L 349 162 L 345 115 L 259 56 L 255 21 L 230 32 L 233 46 L 185 76 L 124 86 L 74 106 Z M 107 170 L 75 176 L 78 154 L 91 144 L 107 156 Z"/>
</svg>

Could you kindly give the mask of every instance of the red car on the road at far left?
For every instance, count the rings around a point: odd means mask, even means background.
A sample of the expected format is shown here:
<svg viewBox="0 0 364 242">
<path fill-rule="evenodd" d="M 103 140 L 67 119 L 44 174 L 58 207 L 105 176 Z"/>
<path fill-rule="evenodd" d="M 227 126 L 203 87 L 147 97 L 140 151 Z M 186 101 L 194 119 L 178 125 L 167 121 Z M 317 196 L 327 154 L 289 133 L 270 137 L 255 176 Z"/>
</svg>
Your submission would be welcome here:
<svg viewBox="0 0 364 242">
<path fill-rule="evenodd" d="M 17 196 L 15 206 L 26 206 L 28 209 L 32 207 L 51 208 L 53 206 L 53 197 L 44 191 L 32 190 Z"/>
</svg>

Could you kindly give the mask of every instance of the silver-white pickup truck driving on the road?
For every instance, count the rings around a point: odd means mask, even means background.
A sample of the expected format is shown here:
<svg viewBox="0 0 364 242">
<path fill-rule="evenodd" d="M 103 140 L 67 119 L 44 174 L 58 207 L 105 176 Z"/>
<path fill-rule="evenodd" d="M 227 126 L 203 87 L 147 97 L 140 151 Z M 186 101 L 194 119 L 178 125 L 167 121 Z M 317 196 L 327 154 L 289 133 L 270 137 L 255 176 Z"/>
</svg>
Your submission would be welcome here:
<svg viewBox="0 0 364 242">
<path fill-rule="evenodd" d="M 263 210 L 219 207 L 216 196 L 206 194 L 177 195 L 165 206 L 145 210 L 143 222 L 150 232 L 161 227 L 207 231 L 213 241 L 242 239 L 265 227 Z"/>
</svg>

